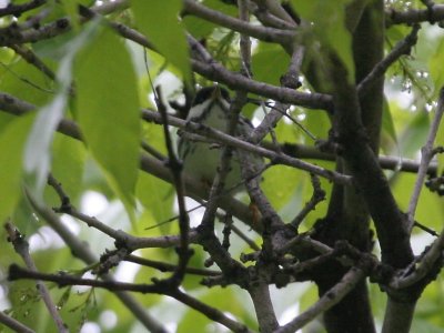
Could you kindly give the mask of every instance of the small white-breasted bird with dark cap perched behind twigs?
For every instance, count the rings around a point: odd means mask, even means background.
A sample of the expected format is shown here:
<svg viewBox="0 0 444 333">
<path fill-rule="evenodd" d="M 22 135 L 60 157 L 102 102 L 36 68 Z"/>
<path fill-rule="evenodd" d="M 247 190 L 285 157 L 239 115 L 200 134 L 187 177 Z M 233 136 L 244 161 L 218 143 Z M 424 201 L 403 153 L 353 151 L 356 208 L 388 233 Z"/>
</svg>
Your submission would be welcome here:
<svg viewBox="0 0 444 333">
<path fill-rule="evenodd" d="M 230 93 L 219 84 L 200 89 L 186 117 L 186 121 L 198 122 L 226 133 L 230 121 Z M 235 129 L 236 135 L 248 137 L 253 131 L 252 123 L 240 117 Z M 218 172 L 222 147 L 210 142 L 196 141 L 190 133 L 179 133 L 178 152 L 183 161 L 183 172 L 200 182 L 211 185 Z M 255 173 L 261 172 L 263 160 L 259 155 L 248 153 Z M 224 189 L 235 194 L 245 189 L 242 181 L 238 151 L 233 151 L 231 170 L 229 171 Z"/>
</svg>

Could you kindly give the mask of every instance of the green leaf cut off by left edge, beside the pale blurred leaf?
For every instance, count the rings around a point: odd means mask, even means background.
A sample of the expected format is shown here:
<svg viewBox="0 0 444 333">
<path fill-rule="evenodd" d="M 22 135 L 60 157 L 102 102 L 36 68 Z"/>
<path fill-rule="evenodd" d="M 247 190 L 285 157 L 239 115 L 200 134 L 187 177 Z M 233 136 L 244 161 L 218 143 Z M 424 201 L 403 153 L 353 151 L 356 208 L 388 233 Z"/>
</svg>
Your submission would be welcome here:
<svg viewBox="0 0 444 333">
<path fill-rule="evenodd" d="M 11 121 L 0 133 L 0 221 L 13 211 L 21 196 L 22 155 L 34 114 Z"/>
</svg>

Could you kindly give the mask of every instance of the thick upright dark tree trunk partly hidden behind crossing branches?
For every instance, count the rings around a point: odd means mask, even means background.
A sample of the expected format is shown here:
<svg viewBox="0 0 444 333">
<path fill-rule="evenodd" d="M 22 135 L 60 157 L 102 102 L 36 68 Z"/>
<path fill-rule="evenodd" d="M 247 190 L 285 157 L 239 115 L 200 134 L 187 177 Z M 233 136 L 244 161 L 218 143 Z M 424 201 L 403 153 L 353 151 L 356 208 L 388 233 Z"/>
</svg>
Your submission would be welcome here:
<svg viewBox="0 0 444 333">
<path fill-rule="evenodd" d="M 383 1 L 371 1 L 363 11 L 360 3 L 362 2 L 354 2 L 347 12 L 347 27 L 353 31 L 356 84 L 383 58 L 384 42 Z M 343 92 L 347 93 L 346 90 Z M 352 133 L 352 138 L 361 137 L 364 141 L 367 140 L 376 154 L 380 143 L 382 101 L 383 78 L 375 82 L 367 95 L 360 99 L 363 127 L 361 127 L 361 132 Z M 341 117 L 340 112 L 336 112 L 332 119 L 334 131 L 341 123 L 337 117 Z M 353 165 L 350 159 L 337 160 L 337 171 L 354 174 L 355 169 L 356 165 Z M 361 251 L 371 251 L 370 215 L 362 191 L 366 189 L 333 186 L 327 215 L 323 223 L 319 224 L 320 240 L 332 245 L 337 240 L 347 240 Z M 344 273 L 344 268 L 339 264 L 325 268 L 319 274 L 321 278 L 316 279 L 320 294 L 327 292 Z M 329 332 L 375 332 L 365 281 L 361 282 L 342 302 L 329 310 L 324 314 L 324 322 Z"/>
</svg>

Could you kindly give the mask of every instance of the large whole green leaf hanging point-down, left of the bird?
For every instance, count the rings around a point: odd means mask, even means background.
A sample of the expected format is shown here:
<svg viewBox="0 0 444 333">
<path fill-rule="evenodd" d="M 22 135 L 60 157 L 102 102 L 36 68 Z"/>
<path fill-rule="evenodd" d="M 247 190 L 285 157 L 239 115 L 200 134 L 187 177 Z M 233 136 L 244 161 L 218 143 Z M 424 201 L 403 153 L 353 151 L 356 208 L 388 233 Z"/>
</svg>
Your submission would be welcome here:
<svg viewBox="0 0 444 333">
<path fill-rule="evenodd" d="M 101 29 L 80 52 L 75 82 L 77 115 L 87 144 L 134 221 L 140 144 L 138 87 L 130 54 L 114 32 Z"/>
</svg>

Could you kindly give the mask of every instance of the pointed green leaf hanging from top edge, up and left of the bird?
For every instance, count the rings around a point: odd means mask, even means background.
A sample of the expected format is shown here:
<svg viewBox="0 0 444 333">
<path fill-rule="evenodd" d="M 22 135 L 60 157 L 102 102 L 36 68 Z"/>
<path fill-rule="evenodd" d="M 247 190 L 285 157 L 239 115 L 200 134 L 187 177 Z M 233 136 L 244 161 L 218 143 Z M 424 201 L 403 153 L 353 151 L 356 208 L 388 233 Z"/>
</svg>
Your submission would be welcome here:
<svg viewBox="0 0 444 333">
<path fill-rule="evenodd" d="M 182 1 L 131 1 L 139 29 L 181 72 L 184 80 L 191 80 L 189 50 L 179 13 Z"/>
</svg>

